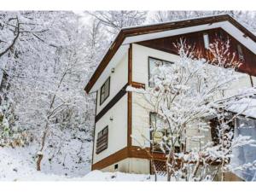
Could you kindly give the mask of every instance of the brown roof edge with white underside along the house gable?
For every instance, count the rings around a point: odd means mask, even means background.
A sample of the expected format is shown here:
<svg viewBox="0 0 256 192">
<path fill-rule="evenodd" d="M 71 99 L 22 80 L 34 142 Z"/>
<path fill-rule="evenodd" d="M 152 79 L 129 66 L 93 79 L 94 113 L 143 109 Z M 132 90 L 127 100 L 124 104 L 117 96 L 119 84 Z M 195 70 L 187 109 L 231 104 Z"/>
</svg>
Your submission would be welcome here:
<svg viewBox="0 0 256 192">
<path fill-rule="evenodd" d="M 108 77 L 110 73 L 110 64 L 112 67 L 117 64 L 119 56 L 127 52 L 126 46 L 140 41 L 155 38 L 171 37 L 177 34 L 189 32 L 198 32 L 212 28 L 221 27 L 224 31 L 230 33 L 241 44 L 256 54 L 256 37 L 248 31 L 230 15 L 207 15 L 204 17 L 189 18 L 184 20 L 173 20 L 158 24 L 144 26 L 131 26 L 122 28 L 119 34 L 114 38 L 113 43 L 109 46 L 107 53 L 103 56 L 102 61 L 96 68 L 95 73 L 90 77 L 84 90 L 87 93 L 96 91 L 99 84 Z M 114 60 L 114 61 L 113 61 Z"/>
</svg>

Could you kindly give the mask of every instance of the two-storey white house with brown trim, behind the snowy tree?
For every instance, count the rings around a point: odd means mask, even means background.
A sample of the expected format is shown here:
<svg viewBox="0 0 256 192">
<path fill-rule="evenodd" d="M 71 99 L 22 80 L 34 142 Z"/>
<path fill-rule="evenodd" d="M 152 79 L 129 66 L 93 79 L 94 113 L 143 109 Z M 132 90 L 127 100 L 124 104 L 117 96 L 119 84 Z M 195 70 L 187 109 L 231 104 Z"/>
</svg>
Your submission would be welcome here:
<svg viewBox="0 0 256 192">
<path fill-rule="evenodd" d="M 256 37 L 230 15 L 122 29 L 85 87 L 88 94 L 96 92 L 92 170 L 150 173 L 151 158 L 158 161 L 157 168 L 164 165 L 163 154 L 155 152 L 149 157 L 146 150 L 150 151 L 150 145 L 140 148 L 140 133 L 150 137 L 148 127 L 153 114 L 143 108 L 142 98 L 127 92 L 126 87 L 150 86 L 148 79 L 156 62 L 168 65 L 177 60 L 174 44 L 180 38 L 206 57 L 214 39 L 229 38 L 230 49 L 243 63 L 238 71 L 244 78 L 236 88 L 256 84 Z M 211 133 L 207 137 L 212 139 Z M 195 147 L 193 142 L 189 145 Z"/>
</svg>

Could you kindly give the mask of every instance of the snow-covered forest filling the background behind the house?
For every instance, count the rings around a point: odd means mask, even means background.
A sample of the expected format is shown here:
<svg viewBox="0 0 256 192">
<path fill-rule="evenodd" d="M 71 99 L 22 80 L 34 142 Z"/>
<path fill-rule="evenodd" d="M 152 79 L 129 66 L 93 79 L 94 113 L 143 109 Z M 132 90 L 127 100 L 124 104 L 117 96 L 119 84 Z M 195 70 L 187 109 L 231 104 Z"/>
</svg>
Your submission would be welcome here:
<svg viewBox="0 0 256 192">
<path fill-rule="evenodd" d="M 219 14 L 256 34 L 252 11 L 1 11 L 1 148 L 15 148 L 35 170 L 42 157 L 42 172 L 83 176 L 95 113 L 84 86 L 119 30 Z"/>
</svg>

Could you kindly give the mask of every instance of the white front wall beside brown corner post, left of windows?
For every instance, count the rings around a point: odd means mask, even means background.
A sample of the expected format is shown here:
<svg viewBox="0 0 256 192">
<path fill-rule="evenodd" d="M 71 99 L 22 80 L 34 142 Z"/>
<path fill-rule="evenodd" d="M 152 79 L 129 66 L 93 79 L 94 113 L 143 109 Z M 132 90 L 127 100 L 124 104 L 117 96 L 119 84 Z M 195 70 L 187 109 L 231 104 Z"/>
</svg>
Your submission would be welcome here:
<svg viewBox="0 0 256 192">
<path fill-rule="evenodd" d="M 148 87 L 148 56 L 172 62 L 178 59 L 177 55 L 138 44 L 132 44 L 132 81 L 145 84 L 146 87 Z M 131 133 L 132 136 L 136 138 L 132 139 L 132 145 L 134 146 L 150 146 L 143 138 L 143 136 L 150 137 L 148 131 L 150 111 L 150 107 L 143 99 L 143 96 L 132 93 Z"/>
</svg>

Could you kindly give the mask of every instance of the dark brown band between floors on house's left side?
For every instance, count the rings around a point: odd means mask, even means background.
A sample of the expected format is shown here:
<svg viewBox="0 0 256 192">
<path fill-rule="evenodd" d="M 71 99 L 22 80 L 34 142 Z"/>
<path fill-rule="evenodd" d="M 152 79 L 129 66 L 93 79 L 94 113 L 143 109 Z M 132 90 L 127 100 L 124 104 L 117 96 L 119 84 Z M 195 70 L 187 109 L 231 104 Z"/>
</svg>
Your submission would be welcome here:
<svg viewBox="0 0 256 192">
<path fill-rule="evenodd" d="M 102 108 L 102 111 L 96 115 L 95 122 L 101 119 L 103 115 L 107 113 L 110 108 L 114 106 L 115 103 L 119 102 L 119 100 L 123 96 L 125 96 L 126 87 L 127 87 L 127 84 L 125 84 L 125 86 L 121 90 L 119 90 L 119 92 L 115 96 L 113 96 L 113 99 L 110 102 L 108 102 L 108 104 L 104 108 Z"/>
</svg>

